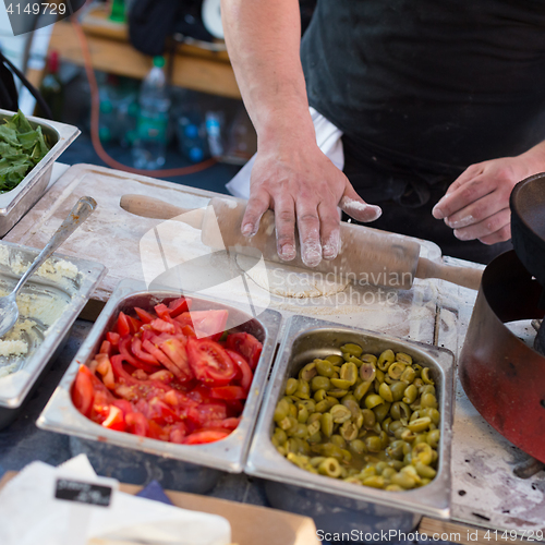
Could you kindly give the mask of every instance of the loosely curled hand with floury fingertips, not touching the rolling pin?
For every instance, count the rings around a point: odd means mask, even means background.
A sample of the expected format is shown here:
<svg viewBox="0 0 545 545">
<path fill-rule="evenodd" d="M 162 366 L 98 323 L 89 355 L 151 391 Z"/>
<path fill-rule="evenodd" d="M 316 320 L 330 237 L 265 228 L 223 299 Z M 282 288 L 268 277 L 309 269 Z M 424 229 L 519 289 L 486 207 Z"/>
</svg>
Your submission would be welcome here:
<svg viewBox="0 0 545 545">
<path fill-rule="evenodd" d="M 435 205 L 433 216 L 444 219 L 458 239 L 495 244 L 511 238 L 509 196 L 514 185 L 545 169 L 545 145 L 517 157 L 471 165 Z"/>
</svg>

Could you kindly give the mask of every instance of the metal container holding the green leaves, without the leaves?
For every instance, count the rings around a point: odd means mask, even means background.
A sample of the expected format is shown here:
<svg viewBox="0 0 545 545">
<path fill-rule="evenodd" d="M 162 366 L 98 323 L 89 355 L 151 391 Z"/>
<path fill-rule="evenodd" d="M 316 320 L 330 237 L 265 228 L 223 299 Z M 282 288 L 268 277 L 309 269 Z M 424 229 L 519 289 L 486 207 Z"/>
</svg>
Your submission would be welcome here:
<svg viewBox="0 0 545 545">
<path fill-rule="evenodd" d="M 3 123 L 14 114 L 12 111 L 0 109 L 0 122 Z M 0 195 L 0 237 L 3 237 L 44 195 L 51 179 L 53 162 L 80 134 L 80 130 L 72 125 L 34 117 L 27 119 L 33 128 L 41 126 L 44 135 L 51 144 L 51 149 L 15 189 Z"/>
</svg>

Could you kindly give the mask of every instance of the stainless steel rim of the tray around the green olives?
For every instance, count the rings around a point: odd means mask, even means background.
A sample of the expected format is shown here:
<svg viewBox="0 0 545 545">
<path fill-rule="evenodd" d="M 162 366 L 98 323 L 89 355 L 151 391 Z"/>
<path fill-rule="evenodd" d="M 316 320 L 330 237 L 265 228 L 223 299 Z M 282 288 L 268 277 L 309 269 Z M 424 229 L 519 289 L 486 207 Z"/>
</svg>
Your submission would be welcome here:
<svg viewBox="0 0 545 545">
<path fill-rule="evenodd" d="M 388 347 L 399 347 L 409 353 L 422 359 L 426 364 L 432 364 L 435 376 L 440 376 L 439 404 L 441 411 L 441 443 L 439 451 L 439 465 L 436 477 L 426 486 L 414 491 L 389 492 L 367 486 L 344 483 L 340 480 L 315 475 L 289 462 L 277 452 L 270 441 L 272 431 L 272 415 L 277 400 L 283 391 L 286 380 L 289 378 L 287 370 L 290 363 L 292 344 L 295 339 L 305 332 L 316 329 L 335 330 L 347 335 L 351 342 L 360 339 L 371 339 L 375 344 L 387 343 Z M 347 339 L 347 340 L 348 340 Z M 343 342 L 347 342 L 344 340 Z M 256 431 L 252 440 L 245 473 L 262 479 L 268 479 L 290 485 L 335 494 L 355 500 L 364 500 L 387 507 L 398 507 L 402 510 L 427 514 L 432 517 L 448 518 L 450 513 L 451 489 L 451 441 L 453 419 L 453 354 L 437 347 L 421 342 L 409 341 L 396 337 L 383 336 L 374 331 L 355 329 L 339 324 L 324 322 L 304 316 L 292 316 L 286 328 L 272 374 L 266 391 Z"/>
</svg>

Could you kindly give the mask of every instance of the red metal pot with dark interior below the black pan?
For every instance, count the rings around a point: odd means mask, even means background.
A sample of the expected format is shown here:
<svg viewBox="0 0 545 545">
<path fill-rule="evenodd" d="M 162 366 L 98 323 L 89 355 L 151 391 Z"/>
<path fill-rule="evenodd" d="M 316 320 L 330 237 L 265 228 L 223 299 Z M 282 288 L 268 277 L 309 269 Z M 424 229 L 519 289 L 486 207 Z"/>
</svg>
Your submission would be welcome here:
<svg viewBox="0 0 545 545">
<path fill-rule="evenodd" d="M 484 420 L 545 463 L 545 356 L 506 325 L 544 318 L 540 298 L 542 286 L 513 250 L 492 261 L 473 307 L 459 375 Z"/>
</svg>

